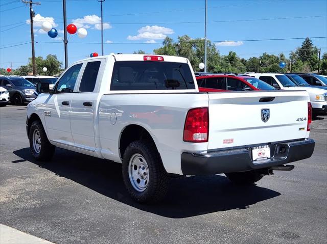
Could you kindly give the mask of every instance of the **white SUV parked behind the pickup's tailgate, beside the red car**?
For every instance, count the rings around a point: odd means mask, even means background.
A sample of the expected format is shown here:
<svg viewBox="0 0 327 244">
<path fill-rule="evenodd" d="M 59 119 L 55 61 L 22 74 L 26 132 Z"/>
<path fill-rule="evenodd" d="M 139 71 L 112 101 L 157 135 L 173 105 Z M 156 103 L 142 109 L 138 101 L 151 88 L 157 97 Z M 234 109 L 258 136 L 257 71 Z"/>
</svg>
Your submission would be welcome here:
<svg viewBox="0 0 327 244">
<path fill-rule="evenodd" d="M 267 84 L 277 89 L 307 91 L 310 96 L 312 113 L 314 116 L 327 113 L 327 93 L 326 90 L 315 87 L 298 87 L 285 74 L 278 73 L 254 73 L 249 74 L 261 79 Z"/>
</svg>

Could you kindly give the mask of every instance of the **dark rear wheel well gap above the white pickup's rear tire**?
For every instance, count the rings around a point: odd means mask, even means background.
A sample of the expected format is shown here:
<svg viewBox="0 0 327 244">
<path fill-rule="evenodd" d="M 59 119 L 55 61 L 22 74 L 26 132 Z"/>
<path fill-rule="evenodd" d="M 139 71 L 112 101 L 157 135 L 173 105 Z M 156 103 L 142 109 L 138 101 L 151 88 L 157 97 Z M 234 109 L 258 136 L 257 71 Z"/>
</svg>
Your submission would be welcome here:
<svg viewBox="0 0 327 244">
<path fill-rule="evenodd" d="M 127 146 L 131 142 L 138 141 L 138 140 L 144 140 L 150 142 L 157 149 L 150 133 L 145 128 L 139 125 L 128 125 L 122 131 L 122 135 L 120 139 L 119 150 L 120 150 L 121 158 L 123 158 Z"/>
</svg>

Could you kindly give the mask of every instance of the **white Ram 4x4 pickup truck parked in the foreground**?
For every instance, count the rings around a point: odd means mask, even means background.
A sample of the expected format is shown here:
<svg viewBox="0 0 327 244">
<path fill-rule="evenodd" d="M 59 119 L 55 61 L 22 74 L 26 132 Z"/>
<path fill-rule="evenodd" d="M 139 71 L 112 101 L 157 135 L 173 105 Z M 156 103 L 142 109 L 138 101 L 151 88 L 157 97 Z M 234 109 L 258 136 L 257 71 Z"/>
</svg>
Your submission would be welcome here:
<svg viewBox="0 0 327 244">
<path fill-rule="evenodd" d="M 185 58 L 85 59 L 37 90 L 26 121 L 33 156 L 50 160 L 56 146 L 121 162 L 139 202 L 162 199 L 170 177 L 249 184 L 314 150 L 306 91 L 200 93 Z"/>
</svg>

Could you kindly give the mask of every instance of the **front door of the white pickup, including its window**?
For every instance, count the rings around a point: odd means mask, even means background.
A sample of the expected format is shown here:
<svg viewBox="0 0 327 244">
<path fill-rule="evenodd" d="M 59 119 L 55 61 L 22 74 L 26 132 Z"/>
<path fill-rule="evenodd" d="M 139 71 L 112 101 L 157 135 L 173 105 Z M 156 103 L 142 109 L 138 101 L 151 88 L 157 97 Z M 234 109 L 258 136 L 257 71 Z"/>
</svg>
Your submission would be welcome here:
<svg viewBox="0 0 327 244">
<path fill-rule="evenodd" d="M 69 68 L 59 79 L 55 93 L 44 103 L 45 124 L 51 141 L 74 146 L 69 114 L 81 68 L 82 63 Z"/>
</svg>

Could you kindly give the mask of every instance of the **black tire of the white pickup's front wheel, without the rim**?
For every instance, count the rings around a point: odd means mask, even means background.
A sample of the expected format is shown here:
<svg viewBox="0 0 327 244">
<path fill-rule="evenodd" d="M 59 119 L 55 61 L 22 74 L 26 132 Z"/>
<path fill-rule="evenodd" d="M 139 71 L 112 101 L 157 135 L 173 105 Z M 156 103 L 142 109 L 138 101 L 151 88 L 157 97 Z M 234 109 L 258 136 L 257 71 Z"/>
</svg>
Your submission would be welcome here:
<svg viewBox="0 0 327 244">
<path fill-rule="evenodd" d="M 36 130 L 39 132 L 39 138 L 40 138 L 40 150 L 36 150 L 33 145 L 33 134 L 36 132 Z M 55 153 L 56 147 L 51 145 L 48 137 L 46 137 L 43 125 L 41 121 L 36 120 L 32 123 L 30 128 L 30 150 L 33 155 L 33 157 L 38 161 L 50 161 Z"/>
</svg>

